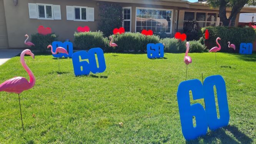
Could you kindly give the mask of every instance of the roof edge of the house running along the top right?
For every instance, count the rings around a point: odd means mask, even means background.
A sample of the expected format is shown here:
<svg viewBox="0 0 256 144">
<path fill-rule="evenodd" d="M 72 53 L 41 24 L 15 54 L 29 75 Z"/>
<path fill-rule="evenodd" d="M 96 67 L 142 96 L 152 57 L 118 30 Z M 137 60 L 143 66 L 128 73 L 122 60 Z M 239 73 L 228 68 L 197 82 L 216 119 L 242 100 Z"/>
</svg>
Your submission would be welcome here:
<svg viewBox="0 0 256 144">
<path fill-rule="evenodd" d="M 146 5 L 164 5 L 178 8 L 188 8 L 197 10 L 219 10 L 218 8 L 209 7 L 207 3 L 191 3 L 187 0 L 95 0 L 104 2 L 119 2 L 119 3 L 138 3 Z M 231 8 L 226 8 L 228 12 L 231 12 Z M 240 13 L 253 13 L 256 12 L 256 8 L 243 7 Z"/>
</svg>

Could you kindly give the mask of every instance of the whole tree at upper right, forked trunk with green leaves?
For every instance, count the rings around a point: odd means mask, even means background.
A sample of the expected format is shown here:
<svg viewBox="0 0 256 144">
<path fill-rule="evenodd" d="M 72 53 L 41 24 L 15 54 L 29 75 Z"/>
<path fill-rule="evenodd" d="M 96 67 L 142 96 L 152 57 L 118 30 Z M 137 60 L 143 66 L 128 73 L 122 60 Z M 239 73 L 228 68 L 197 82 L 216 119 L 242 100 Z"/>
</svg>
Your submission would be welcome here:
<svg viewBox="0 0 256 144">
<path fill-rule="evenodd" d="M 224 26 L 234 26 L 236 16 L 244 7 L 244 5 L 256 5 L 256 0 L 208 0 L 207 1 L 212 7 L 219 7 L 219 18 L 223 22 Z M 231 8 L 229 18 L 226 16 L 226 7 Z"/>
</svg>

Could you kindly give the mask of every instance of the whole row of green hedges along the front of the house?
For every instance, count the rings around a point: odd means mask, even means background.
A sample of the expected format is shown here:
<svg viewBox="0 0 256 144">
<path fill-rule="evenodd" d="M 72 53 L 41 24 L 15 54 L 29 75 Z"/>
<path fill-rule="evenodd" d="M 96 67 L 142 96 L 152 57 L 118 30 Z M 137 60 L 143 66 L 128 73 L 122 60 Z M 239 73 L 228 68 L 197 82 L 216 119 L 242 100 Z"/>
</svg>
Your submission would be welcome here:
<svg viewBox="0 0 256 144">
<path fill-rule="evenodd" d="M 204 32 L 209 30 L 209 39 L 205 40 Z M 228 27 L 206 27 L 199 32 L 201 38 L 198 41 L 190 41 L 190 52 L 204 52 L 216 44 L 216 38 L 220 37 L 221 52 L 239 53 L 240 43 L 252 43 L 256 39 L 256 31 L 252 28 L 228 28 Z M 165 44 L 165 52 L 183 53 L 186 51 L 186 41 L 180 41 L 175 38 L 160 38 L 160 35 L 145 36 L 141 33 L 124 33 L 121 35 L 111 35 L 113 42 L 118 46 L 113 48 L 109 46 L 110 39 L 105 37 L 101 31 L 96 32 L 75 32 L 74 43 L 78 49 L 89 50 L 90 48 L 100 47 L 106 52 L 124 52 L 134 50 L 135 52 L 143 52 L 146 50 L 148 43 Z M 161 36 L 164 37 L 164 36 Z M 50 35 L 32 35 L 32 42 L 36 45 L 36 49 L 43 52 L 47 45 L 52 41 L 56 41 L 55 34 Z M 228 48 L 228 41 L 236 45 L 236 51 Z M 207 46 L 207 47 L 206 47 Z"/>
</svg>

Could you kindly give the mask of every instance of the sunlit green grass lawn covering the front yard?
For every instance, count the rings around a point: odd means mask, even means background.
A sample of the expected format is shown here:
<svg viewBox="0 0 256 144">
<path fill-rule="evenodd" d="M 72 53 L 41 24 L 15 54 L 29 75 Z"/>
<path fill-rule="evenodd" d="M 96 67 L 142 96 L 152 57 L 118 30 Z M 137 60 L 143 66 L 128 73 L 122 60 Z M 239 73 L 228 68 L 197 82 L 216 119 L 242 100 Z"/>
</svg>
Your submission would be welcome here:
<svg viewBox="0 0 256 144">
<path fill-rule="evenodd" d="M 75 77 L 71 59 L 51 55 L 25 61 L 35 86 L 21 94 L 0 92 L 0 143 L 256 143 L 256 54 L 190 53 L 188 79 L 220 74 L 226 82 L 230 120 L 194 141 L 181 132 L 177 89 L 185 81 L 184 54 L 106 53 L 106 71 Z M 0 83 L 28 74 L 19 56 L 0 66 Z M 240 81 L 238 81 L 240 80 Z M 191 103 L 201 103 L 203 100 Z M 34 116 L 33 116 L 34 115 Z M 123 126 L 119 125 L 123 122 Z"/>
</svg>

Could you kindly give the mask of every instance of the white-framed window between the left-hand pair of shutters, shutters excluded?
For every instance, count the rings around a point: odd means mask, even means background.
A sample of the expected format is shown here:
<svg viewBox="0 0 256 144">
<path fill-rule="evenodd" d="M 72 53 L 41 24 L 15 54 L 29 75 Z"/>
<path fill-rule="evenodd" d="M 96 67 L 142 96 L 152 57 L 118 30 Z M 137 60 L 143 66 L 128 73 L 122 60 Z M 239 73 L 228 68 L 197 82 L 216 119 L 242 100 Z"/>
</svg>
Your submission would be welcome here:
<svg viewBox="0 0 256 144">
<path fill-rule="evenodd" d="M 37 3 L 38 19 L 53 20 L 53 5 Z"/>
</svg>

